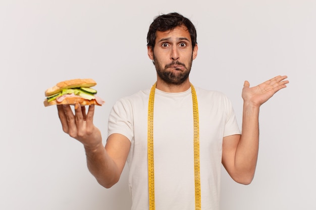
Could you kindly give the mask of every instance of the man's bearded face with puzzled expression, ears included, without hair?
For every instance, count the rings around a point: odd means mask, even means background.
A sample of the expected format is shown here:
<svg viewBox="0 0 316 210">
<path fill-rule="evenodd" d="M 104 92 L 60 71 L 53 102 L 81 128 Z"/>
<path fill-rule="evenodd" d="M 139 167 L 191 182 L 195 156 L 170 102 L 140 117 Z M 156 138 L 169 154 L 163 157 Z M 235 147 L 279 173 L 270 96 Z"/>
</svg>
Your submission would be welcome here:
<svg viewBox="0 0 316 210">
<path fill-rule="evenodd" d="M 170 85 L 180 85 L 188 79 L 196 55 L 197 45 L 192 50 L 190 33 L 184 26 L 157 31 L 154 49 L 148 47 L 158 79 Z"/>
</svg>

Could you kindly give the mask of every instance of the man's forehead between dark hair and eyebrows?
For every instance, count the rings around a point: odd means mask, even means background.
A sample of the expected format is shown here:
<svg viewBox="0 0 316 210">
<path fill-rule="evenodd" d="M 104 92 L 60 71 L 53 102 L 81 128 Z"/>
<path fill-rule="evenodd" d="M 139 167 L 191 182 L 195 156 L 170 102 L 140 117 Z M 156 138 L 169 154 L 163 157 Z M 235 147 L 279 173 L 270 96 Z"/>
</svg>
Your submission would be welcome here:
<svg viewBox="0 0 316 210">
<path fill-rule="evenodd" d="M 155 42 L 173 39 L 187 39 L 189 42 L 191 42 L 191 36 L 187 27 L 177 26 L 176 28 L 168 31 L 156 31 Z"/>
</svg>

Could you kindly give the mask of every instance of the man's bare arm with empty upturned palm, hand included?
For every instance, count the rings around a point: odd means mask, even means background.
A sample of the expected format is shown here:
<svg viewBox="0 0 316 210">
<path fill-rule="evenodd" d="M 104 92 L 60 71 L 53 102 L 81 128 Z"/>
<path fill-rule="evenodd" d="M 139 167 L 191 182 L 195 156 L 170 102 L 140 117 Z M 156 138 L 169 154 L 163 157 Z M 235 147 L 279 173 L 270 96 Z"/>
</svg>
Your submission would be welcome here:
<svg viewBox="0 0 316 210">
<path fill-rule="evenodd" d="M 286 87 L 289 83 L 285 81 L 286 78 L 277 76 L 252 88 L 249 88 L 248 81 L 244 83 L 242 133 L 223 138 L 222 163 L 238 183 L 250 184 L 254 176 L 259 145 L 259 108 Z"/>
</svg>

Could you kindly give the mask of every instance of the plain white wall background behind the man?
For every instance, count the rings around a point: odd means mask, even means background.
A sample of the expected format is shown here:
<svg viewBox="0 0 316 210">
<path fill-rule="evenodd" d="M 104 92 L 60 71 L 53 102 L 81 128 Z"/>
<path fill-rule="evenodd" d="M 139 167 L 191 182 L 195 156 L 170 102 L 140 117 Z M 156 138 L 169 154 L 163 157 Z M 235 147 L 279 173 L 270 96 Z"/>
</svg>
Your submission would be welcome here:
<svg viewBox="0 0 316 210">
<path fill-rule="evenodd" d="M 94 79 L 106 100 L 94 117 L 105 143 L 115 101 L 155 82 L 146 34 L 153 17 L 169 12 L 197 29 L 191 82 L 224 92 L 240 125 L 244 80 L 290 80 L 261 107 L 253 182 L 234 183 L 223 170 L 221 209 L 316 209 L 314 0 L 2 0 L 0 209 L 130 208 L 128 167 L 114 187 L 98 185 L 56 107 L 43 106 L 44 91 L 63 80 Z"/>
</svg>

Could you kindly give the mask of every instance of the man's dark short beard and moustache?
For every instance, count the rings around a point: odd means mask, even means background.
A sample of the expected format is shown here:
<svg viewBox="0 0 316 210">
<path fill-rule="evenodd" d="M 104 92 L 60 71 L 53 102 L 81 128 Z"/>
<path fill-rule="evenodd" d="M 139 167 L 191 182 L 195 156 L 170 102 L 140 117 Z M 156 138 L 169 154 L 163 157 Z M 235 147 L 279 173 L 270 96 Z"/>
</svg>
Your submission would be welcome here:
<svg viewBox="0 0 316 210">
<path fill-rule="evenodd" d="M 162 64 L 153 55 L 153 64 L 156 68 L 157 75 L 168 85 L 181 85 L 182 83 L 184 83 L 189 77 L 192 61 L 193 61 L 193 58 L 191 58 L 188 66 L 186 66 L 184 63 L 181 63 L 179 61 L 173 61 L 165 66 L 162 66 Z M 175 68 L 177 72 L 173 72 L 173 71 L 169 72 L 167 69 L 172 65 L 182 65 L 185 71 L 181 72 L 182 69 Z"/>
</svg>

